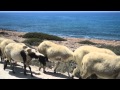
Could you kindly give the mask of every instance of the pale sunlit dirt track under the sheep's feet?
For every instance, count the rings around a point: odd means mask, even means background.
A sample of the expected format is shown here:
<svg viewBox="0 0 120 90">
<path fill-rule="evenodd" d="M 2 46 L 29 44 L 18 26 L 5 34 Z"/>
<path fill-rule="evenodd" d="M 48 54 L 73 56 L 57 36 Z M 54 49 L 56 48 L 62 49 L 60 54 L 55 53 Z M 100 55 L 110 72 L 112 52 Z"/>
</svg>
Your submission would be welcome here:
<svg viewBox="0 0 120 90">
<path fill-rule="evenodd" d="M 18 63 L 18 66 L 15 67 L 15 74 L 12 73 L 10 66 L 3 70 L 3 63 L 0 63 L 0 79 L 69 79 L 67 73 L 53 73 L 53 70 L 46 69 L 46 74 L 38 71 L 38 67 L 31 66 L 34 77 L 30 76 L 30 72 L 27 68 L 27 76 L 23 74 L 22 63 Z"/>
</svg>

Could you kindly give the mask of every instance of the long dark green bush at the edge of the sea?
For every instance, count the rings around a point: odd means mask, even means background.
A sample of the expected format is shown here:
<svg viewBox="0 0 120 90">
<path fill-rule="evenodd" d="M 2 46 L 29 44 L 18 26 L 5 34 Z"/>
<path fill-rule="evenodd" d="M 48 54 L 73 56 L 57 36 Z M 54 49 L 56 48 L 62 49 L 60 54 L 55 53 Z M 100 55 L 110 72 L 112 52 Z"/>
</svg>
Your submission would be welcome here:
<svg viewBox="0 0 120 90">
<path fill-rule="evenodd" d="M 33 33 L 26 33 L 25 35 L 22 36 L 23 38 L 39 38 L 41 40 L 56 40 L 56 41 L 65 41 L 65 39 L 60 38 L 58 36 L 54 36 L 54 35 L 48 35 L 45 33 L 37 33 L 37 32 L 33 32 Z"/>
</svg>

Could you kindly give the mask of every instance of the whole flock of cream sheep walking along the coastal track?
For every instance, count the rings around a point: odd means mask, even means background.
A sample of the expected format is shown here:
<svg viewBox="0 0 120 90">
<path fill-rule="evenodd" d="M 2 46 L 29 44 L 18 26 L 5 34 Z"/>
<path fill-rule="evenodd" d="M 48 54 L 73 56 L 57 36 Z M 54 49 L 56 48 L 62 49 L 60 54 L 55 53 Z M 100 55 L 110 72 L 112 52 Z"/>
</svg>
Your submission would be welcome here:
<svg viewBox="0 0 120 90">
<path fill-rule="evenodd" d="M 113 51 L 95 46 L 80 46 L 74 52 L 66 46 L 55 44 L 51 41 L 43 41 L 37 49 L 31 48 L 24 43 L 16 42 L 11 39 L 0 38 L 0 55 L 1 61 L 4 61 L 4 70 L 10 62 L 13 73 L 16 62 L 23 62 L 24 74 L 26 75 L 26 67 L 30 67 L 30 62 L 33 58 L 39 60 L 43 64 L 43 72 L 46 70 L 46 62 L 57 62 L 54 67 L 54 73 L 60 62 L 75 61 L 76 68 L 70 76 L 69 65 L 68 76 L 74 78 L 76 72 L 80 72 L 82 79 L 91 78 L 93 74 L 97 79 L 117 79 L 120 78 L 120 56 L 117 56 Z M 41 69 L 41 67 L 39 67 Z M 31 76 L 32 71 L 31 71 Z"/>
</svg>

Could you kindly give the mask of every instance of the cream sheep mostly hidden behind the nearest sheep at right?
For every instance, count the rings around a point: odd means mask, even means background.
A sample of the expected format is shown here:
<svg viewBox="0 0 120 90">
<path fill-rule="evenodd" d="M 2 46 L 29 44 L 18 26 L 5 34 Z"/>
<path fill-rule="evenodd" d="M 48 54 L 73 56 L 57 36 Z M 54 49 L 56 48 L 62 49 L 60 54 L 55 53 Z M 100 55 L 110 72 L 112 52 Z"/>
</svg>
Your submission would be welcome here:
<svg viewBox="0 0 120 90">
<path fill-rule="evenodd" d="M 89 46 L 89 45 L 81 46 L 74 51 L 74 60 L 77 63 L 77 67 L 73 70 L 72 78 L 74 78 L 76 72 L 80 71 L 81 61 L 83 57 L 90 52 L 102 52 L 102 53 L 107 53 L 107 54 L 116 56 L 116 54 L 109 49 L 98 48 L 98 47 Z"/>
</svg>

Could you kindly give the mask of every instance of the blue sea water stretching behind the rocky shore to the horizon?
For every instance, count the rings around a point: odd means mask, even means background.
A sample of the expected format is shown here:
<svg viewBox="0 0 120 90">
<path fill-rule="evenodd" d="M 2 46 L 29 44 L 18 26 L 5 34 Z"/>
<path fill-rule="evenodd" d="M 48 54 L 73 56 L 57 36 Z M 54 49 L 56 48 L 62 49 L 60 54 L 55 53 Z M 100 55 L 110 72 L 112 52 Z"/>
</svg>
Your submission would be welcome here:
<svg viewBox="0 0 120 90">
<path fill-rule="evenodd" d="M 120 40 L 120 12 L 1 12 L 0 28 L 76 38 Z"/>
</svg>

